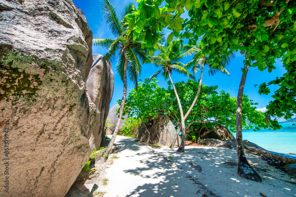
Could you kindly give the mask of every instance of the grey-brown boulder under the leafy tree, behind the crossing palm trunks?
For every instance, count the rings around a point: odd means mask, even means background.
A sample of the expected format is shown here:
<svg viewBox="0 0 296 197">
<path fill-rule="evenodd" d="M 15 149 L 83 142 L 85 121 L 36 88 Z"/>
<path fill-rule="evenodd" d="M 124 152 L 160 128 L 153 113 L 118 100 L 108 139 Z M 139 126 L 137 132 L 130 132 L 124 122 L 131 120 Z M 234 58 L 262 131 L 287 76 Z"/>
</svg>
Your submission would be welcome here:
<svg viewBox="0 0 296 197">
<path fill-rule="evenodd" d="M 170 146 L 176 134 L 175 126 L 167 115 L 159 114 L 153 120 L 149 118 L 147 122 L 139 126 L 139 141 L 150 144 L 160 144 Z M 177 139 L 181 142 L 180 137 Z"/>
</svg>

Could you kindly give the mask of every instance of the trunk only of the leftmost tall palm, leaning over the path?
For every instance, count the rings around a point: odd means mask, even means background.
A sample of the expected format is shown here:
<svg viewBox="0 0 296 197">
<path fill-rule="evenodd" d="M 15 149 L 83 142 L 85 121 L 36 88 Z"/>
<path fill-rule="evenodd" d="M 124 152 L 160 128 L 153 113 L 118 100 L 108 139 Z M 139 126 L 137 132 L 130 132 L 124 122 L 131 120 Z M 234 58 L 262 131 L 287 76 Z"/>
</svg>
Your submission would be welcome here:
<svg viewBox="0 0 296 197">
<path fill-rule="evenodd" d="M 122 100 L 121 100 L 121 104 L 120 104 L 120 110 L 119 110 L 115 130 L 113 132 L 110 143 L 109 143 L 106 151 L 104 152 L 104 155 L 106 155 L 106 154 L 109 155 L 110 154 L 112 146 L 113 146 L 115 138 L 116 138 L 116 135 L 118 133 L 118 128 L 119 128 L 119 125 L 120 125 L 120 120 L 121 120 L 121 116 L 122 116 L 122 113 L 123 113 L 124 104 L 126 102 L 126 91 L 127 91 L 126 70 L 127 70 L 127 66 L 128 66 L 128 61 L 127 61 L 127 58 L 125 56 L 124 69 L 123 69 L 123 95 L 122 95 Z"/>
</svg>

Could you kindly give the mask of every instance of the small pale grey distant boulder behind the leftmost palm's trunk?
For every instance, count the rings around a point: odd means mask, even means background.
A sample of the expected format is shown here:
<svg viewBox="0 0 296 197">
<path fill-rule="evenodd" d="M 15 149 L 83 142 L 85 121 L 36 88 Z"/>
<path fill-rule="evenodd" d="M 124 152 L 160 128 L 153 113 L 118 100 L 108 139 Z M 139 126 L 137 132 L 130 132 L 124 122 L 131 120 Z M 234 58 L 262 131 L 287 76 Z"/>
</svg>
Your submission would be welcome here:
<svg viewBox="0 0 296 197">
<path fill-rule="evenodd" d="M 108 113 L 108 116 L 107 116 L 107 119 L 109 119 L 109 124 L 112 124 L 113 126 L 110 126 L 107 128 L 106 130 L 106 133 L 108 135 L 111 135 L 113 134 L 114 130 L 115 130 L 115 126 L 116 126 L 116 122 L 117 122 L 117 119 L 118 119 L 118 114 L 116 115 L 116 110 L 118 110 L 120 108 L 120 106 L 118 104 L 114 105 L 110 110 L 109 110 L 109 113 Z M 124 123 L 126 122 L 126 118 L 128 118 L 128 114 L 124 115 L 121 117 L 121 120 L 120 120 L 120 125 L 119 125 L 119 128 L 118 128 L 118 131 L 120 131 L 124 125 Z"/>
</svg>

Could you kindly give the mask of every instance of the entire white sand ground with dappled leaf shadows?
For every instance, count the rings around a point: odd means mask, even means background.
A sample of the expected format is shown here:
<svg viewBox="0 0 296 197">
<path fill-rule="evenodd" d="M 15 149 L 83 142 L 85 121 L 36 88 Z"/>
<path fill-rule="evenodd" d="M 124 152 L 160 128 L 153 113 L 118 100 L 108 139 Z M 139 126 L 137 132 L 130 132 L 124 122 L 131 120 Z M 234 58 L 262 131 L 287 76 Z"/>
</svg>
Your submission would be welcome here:
<svg viewBox="0 0 296 197">
<path fill-rule="evenodd" d="M 262 183 L 243 179 L 237 175 L 237 166 L 223 164 L 227 161 L 237 162 L 235 150 L 185 146 L 184 153 L 177 153 L 176 148 L 168 147 L 154 148 L 153 153 L 149 146 L 124 136 L 117 136 L 115 144 L 118 152 L 109 156 L 108 160 L 112 160 L 113 164 L 104 174 L 109 181 L 107 185 L 98 184 L 96 189 L 107 192 L 105 197 L 202 196 L 210 194 L 210 191 L 222 197 L 260 196 L 260 193 L 268 197 L 296 196 L 296 178 L 249 152 L 246 152 L 246 157 L 264 178 Z M 113 155 L 119 158 L 112 159 Z M 173 163 L 163 156 L 173 157 Z M 200 165 L 202 172 L 189 167 L 189 162 Z M 193 184 L 192 178 L 199 183 Z"/>
</svg>

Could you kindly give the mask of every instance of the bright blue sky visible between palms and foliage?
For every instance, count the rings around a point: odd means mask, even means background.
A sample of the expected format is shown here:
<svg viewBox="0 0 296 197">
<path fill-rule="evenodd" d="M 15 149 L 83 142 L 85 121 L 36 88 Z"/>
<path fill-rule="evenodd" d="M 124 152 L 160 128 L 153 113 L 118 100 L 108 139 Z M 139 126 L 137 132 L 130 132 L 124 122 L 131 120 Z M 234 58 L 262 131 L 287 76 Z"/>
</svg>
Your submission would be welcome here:
<svg viewBox="0 0 296 197">
<path fill-rule="evenodd" d="M 93 32 L 93 38 L 111 38 L 113 39 L 114 36 L 112 35 L 111 31 L 109 30 L 108 26 L 104 22 L 104 15 L 100 9 L 100 2 L 101 1 L 94 1 L 94 0 L 73 0 L 74 4 L 79 7 L 86 16 L 87 22 L 89 27 Z M 119 14 L 122 10 L 123 6 L 131 2 L 131 0 L 110 0 L 110 3 L 116 9 L 116 12 Z M 137 4 L 136 1 L 135 4 Z M 186 13 L 184 13 L 186 14 Z M 183 16 L 183 18 L 188 17 L 188 15 Z M 166 31 L 168 35 L 169 30 Z M 96 54 L 104 54 L 107 50 L 102 47 L 95 47 L 93 45 L 92 53 Z M 190 58 L 188 58 L 188 61 Z M 218 85 L 218 92 L 224 90 L 225 92 L 229 92 L 232 97 L 237 97 L 237 91 L 240 83 L 240 79 L 242 76 L 241 68 L 244 67 L 243 65 L 244 57 L 242 55 L 237 55 L 234 61 L 232 61 L 231 65 L 227 68 L 230 73 L 230 76 L 224 74 L 216 74 L 214 76 L 209 76 L 207 70 L 204 72 L 204 77 L 202 84 L 206 84 L 207 86 L 214 86 Z M 184 62 L 187 63 L 187 62 Z M 122 98 L 123 93 L 123 83 L 121 82 L 118 74 L 115 70 L 116 62 L 112 63 L 112 70 L 114 72 L 114 92 L 113 97 L 110 103 L 110 108 L 117 104 L 117 100 Z M 273 70 L 271 73 L 268 71 L 258 71 L 257 68 L 250 67 L 249 72 L 247 74 L 247 80 L 244 87 L 244 94 L 248 95 L 248 97 L 254 102 L 258 102 L 258 108 L 264 108 L 268 104 L 269 101 L 272 100 L 271 95 L 277 89 L 277 86 L 271 87 L 271 93 L 269 95 L 260 95 L 258 93 L 258 87 L 254 87 L 254 84 L 261 84 L 263 82 L 269 82 L 276 78 L 276 76 L 281 77 L 286 70 L 282 66 L 280 61 L 277 61 L 276 69 Z M 153 73 L 158 71 L 157 68 L 153 67 L 152 65 L 143 65 L 142 66 L 142 74 L 140 79 L 145 79 L 151 76 Z M 186 77 L 180 76 L 178 74 L 173 74 L 173 81 L 187 81 Z M 200 78 L 200 72 L 196 74 L 196 78 Z M 161 76 L 157 79 L 160 83 L 161 87 L 167 87 L 167 83 L 164 81 Z M 134 85 L 131 82 L 128 82 L 128 93 L 131 92 Z"/>
</svg>

